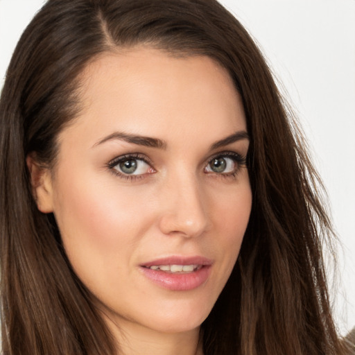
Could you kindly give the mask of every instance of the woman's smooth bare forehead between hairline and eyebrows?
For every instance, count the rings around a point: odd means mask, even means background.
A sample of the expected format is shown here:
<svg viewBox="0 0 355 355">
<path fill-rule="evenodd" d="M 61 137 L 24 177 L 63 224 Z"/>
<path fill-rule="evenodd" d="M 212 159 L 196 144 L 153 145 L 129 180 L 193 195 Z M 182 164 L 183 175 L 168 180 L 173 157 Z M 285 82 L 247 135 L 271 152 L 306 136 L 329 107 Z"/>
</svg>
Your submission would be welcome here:
<svg viewBox="0 0 355 355">
<path fill-rule="evenodd" d="M 83 110 L 75 125 L 91 135 L 119 130 L 168 139 L 174 132 L 184 130 L 188 137 L 188 131 L 199 130 L 213 141 L 245 130 L 232 78 L 207 56 L 177 58 L 141 47 L 104 53 L 81 80 Z"/>
</svg>

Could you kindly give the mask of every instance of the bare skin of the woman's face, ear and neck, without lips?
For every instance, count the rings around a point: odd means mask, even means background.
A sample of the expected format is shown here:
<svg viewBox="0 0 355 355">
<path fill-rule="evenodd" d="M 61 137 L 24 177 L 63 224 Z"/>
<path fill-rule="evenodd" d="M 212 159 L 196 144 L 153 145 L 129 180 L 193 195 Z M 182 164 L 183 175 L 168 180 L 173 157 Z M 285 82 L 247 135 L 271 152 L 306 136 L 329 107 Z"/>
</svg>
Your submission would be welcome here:
<svg viewBox="0 0 355 355">
<path fill-rule="evenodd" d="M 83 110 L 58 137 L 54 170 L 28 158 L 38 208 L 55 214 L 73 269 L 123 354 L 202 354 L 200 324 L 236 262 L 252 205 L 243 162 L 224 157 L 222 172 L 210 164 L 222 152 L 248 152 L 245 138 L 211 149 L 246 132 L 241 98 L 214 60 L 144 47 L 105 53 L 82 78 Z M 108 166 L 128 153 L 147 160 L 135 160 L 133 179 Z M 209 277 L 171 291 L 141 272 L 142 263 L 172 255 L 211 259 Z"/>
</svg>

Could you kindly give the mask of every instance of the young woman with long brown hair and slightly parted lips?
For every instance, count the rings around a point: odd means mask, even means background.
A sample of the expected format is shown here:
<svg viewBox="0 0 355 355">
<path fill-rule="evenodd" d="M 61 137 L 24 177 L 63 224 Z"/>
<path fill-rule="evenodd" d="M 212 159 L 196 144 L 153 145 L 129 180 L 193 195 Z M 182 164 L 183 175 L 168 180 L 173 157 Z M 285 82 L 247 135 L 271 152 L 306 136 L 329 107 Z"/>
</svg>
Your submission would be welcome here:
<svg viewBox="0 0 355 355">
<path fill-rule="evenodd" d="M 342 354 L 318 175 L 212 0 L 49 0 L 1 117 L 4 354 Z"/>
</svg>

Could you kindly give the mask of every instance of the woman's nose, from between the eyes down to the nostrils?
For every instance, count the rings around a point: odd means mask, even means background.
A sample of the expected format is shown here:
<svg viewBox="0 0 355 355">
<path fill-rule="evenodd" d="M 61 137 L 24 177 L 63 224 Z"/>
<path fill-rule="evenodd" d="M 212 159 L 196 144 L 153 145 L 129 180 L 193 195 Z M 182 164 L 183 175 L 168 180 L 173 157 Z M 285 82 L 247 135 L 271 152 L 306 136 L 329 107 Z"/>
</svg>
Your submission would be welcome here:
<svg viewBox="0 0 355 355">
<path fill-rule="evenodd" d="M 210 225 L 207 199 L 193 174 L 174 176 L 161 194 L 159 229 L 168 235 L 196 237 Z"/>
</svg>

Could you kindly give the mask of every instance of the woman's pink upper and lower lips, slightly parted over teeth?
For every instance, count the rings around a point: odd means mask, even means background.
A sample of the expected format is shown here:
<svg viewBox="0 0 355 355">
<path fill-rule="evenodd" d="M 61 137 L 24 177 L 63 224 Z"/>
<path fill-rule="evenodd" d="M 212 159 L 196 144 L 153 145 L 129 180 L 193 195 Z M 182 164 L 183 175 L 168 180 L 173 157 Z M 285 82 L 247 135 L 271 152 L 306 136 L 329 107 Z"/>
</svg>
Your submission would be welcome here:
<svg viewBox="0 0 355 355">
<path fill-rule="evenodd" d="M 189 291 L 205 284 L 211 272 L 213 261 L 205 257 L 166 257 L 148 261 L 140 265 L 140 270 L 150 281 L 171 291 Z M 162 270 L 152 270 L 154 265 L 199 265 L 198 270 L 178 274 Z"/>
</svg>

